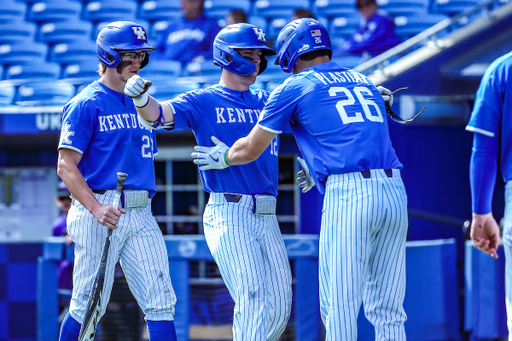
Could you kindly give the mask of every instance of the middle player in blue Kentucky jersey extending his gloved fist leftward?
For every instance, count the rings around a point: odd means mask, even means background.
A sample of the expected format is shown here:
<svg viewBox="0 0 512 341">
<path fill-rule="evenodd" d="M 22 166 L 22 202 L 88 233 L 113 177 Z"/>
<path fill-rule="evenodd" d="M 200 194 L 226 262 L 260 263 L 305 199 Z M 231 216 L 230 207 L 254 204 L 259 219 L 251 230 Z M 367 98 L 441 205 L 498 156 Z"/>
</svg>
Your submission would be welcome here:
<svg viewBox="0 0 512 341">
<path fill-rule="evenodd" d="M 269 96 L 249 87 L 266 69 L 265 56 L 275 52 L 261 28 L 235 24 L 217 34 L 213 55 L 222 67 L 219 84 L 171 101 L 157 103 L 145 92 L 149 83 L 133 76 L 125 93 L 134 98 L 141 122 L 155 129 L 174 124 L 174 130 L 192 130 L 199 144 L 214 134 L 231 143 L 247 135 Z M 237 341 L 277 340 L 290 317 L 291 271 L 275 215 L 278 145 L 276 137 L 250 165 L 200 172 L 210 193 L 204 234 L 235 302 Z"/>
</svg>

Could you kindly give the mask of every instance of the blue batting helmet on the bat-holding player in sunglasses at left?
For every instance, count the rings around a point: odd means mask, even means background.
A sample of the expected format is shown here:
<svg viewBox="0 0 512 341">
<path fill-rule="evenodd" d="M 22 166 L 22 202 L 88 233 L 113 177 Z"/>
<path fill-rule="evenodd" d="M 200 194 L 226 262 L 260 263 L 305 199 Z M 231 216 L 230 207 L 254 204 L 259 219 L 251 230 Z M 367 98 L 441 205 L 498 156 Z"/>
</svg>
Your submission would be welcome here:
<svg viewBox="0 0 512 341">
<path fill-rule="evenodd" d="M 148 44 L 148 35 L 144 27 L 130 21 L 115 21 L 107 24 L 96 38 L 96 55 L 98 60 L 108 68 L 121 64 L 123 52 L 146 51 L 141 61 L 142 69 L 149 62 L 149 53 L 156 48 Z"/>
</svg>

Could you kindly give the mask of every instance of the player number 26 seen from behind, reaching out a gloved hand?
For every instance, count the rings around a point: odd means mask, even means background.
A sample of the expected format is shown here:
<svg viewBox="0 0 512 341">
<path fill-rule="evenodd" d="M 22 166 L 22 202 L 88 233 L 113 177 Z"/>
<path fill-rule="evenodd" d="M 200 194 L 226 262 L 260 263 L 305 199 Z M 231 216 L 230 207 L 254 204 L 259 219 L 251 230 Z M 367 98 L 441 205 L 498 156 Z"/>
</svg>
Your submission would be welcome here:
<svg viewBox="0 0 512 341">
<path fill-rule="evenodd" d="M 214 137 L 215 146 L 196 147 L 194 162 L 203 170 L 249 163 L 289 123 L 307 165 L 302 185 L 325 193 L 319 278 L 326 340 L 357 339 L 361 303 L 376 340 L 405 340 L 407 196 L 384 101 L 364 75 L 330 61 L 330 39 L 317 20 L 286 25 L 277 47 L 277 62 L 295 75 L 272 92 L 247 137 L 231 148 Z"/>
</svg>

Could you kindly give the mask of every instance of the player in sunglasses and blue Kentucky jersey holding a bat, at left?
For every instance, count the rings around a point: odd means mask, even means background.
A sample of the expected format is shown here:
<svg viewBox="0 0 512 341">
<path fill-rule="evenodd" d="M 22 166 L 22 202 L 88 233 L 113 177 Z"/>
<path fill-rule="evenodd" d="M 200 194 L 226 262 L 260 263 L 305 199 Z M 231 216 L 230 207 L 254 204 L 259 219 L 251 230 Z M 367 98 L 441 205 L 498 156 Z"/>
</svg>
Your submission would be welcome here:
<svg viewBox="0 0 512 341">
<path fill-rule="evenodd" d="M 78 339 L 103 242 L 112 229 L 100 314 L 119 260 L 145 314 L 149 339 L 173 341 L 176 296 L 165 242 L 151 213 L 155 132 L 139 124 L 133 101 L 124 95 L 126 81 L 147 65 L 155 48 L 142 26 L 127 21 L 106 25 L 96 44 L 101 78 L 64 107 L 58 147 L 57 172 L 73 199 L 67 228 L 75 242 L 73 294 L 60 340 Z M 119 209 L 112 206 L 117 172 L 128 174 Z"/>
</svg>

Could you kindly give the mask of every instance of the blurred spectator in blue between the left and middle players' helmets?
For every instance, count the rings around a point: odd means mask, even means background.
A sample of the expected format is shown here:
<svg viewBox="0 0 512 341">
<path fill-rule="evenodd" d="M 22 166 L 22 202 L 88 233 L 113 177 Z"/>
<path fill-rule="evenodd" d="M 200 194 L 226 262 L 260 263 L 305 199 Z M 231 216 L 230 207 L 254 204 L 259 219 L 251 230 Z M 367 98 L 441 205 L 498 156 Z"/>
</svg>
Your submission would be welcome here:
<svg viewBox="0 0 512 341">
<path fill-rule="evenodd" d="M 212 59 L 212 44 L 220 27 L 204 14 L 204 0 L 181 0 L 181 9 L 183 15 L 169 21 L 158 37 L 155 58 L 177 60 L 183 65 Z"/>
</svg>

